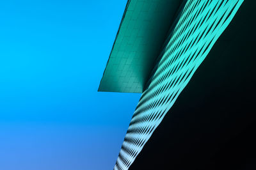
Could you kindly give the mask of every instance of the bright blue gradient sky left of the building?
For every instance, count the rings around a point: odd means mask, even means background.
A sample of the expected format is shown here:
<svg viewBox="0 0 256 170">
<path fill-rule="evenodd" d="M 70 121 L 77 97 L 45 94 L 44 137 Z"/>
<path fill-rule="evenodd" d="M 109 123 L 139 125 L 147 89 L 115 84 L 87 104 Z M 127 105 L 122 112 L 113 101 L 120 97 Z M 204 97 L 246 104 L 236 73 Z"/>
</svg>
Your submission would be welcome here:
<svg viewBox="0 0 256 170">
<path fill-rule="evenodd" d="M 126 0 L 0 1 L 0 169 L 113 169 L 140 94 L 97 92 Z"/>
</svg>

